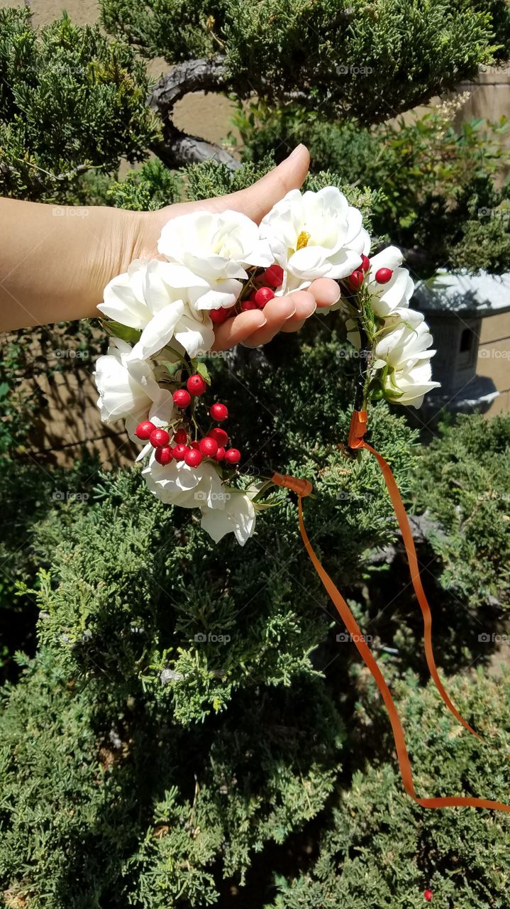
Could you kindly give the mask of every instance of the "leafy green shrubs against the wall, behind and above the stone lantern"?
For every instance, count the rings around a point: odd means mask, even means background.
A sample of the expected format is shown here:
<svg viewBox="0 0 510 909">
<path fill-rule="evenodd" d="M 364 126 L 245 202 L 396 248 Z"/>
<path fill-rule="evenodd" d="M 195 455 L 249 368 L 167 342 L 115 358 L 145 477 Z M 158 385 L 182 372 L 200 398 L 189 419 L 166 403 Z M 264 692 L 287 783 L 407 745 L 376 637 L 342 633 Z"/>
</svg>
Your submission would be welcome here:
<svg viewBox="0 0 510 909">
<path fill-rule="evenodd" d="M 375 230 L 410 251 L 415 273 L 449 266 L 502 274 L 510 269 L 510 184 L 500 188 L 497 180 L 510 161 L 500 144 L 507 122 L 472 119 L 454 127 L 459 106 L 447 102 L 408 122 L 362 129 L 324 122 L 320 111 L 295 104 L 275 110 L 256 102 L 249 112 L 240 107 L 235 123 L 248 159 L 275 147 L 280 159 L 299 135 L 312 170 L 330 168 L 378 192 Z"/>
</svg>

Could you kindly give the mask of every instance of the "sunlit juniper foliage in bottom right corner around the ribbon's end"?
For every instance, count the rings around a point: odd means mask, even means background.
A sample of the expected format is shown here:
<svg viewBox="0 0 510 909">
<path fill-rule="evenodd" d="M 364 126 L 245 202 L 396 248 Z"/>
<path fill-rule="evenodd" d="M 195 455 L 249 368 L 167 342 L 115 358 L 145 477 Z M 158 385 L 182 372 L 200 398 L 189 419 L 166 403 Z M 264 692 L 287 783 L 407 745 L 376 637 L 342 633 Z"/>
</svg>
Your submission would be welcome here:
<svg viewBox="0 0 510 909">
<path fill-rule="evenodd" d="M 397 684 L 418 795 L 508 801 L 508 681 L 478 673 L 450 686 L 461 712 L 489 739 L 485 745 L 458 733 L 432 684 L 420 690 L 412 674 Z M 428 887 L 440 909 L 505 909 L 509 834 L 507 814 L 418 808 L 403 794 L 395 766 L 378 758 L 338 792 L 317 860 L 280 877 L 270 909 L 420 909 Z"/>
</svg>

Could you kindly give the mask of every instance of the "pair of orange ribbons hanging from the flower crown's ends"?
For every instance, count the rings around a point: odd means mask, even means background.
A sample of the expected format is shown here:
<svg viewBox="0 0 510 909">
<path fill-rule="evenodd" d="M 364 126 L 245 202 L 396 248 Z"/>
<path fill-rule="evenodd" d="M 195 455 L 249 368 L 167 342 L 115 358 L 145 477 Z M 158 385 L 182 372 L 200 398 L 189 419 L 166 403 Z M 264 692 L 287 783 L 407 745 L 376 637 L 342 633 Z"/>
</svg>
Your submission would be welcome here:
<svg viewBox="0 0 510 909">
<path fill-rule="evenodd" d="M 483 742 L 484 740 L 482 739 L 481 735 L 478 735 L 475 730 L 468 723 L 466 723 L 466 720 L 463 719 L 463 717 L 458 713 L 456 706 L 452 704 L 450 698 L 448 697 L 448 694 L 446 694 L 446 690 L 439 678 L 439 674 L 437 673 L 436 661 L 434 659 L 432 650 L 432 614 L 430 612 L 430 606 L 427 603 L 427 597 L 421 583 L 417 563 L 417 553 L 413 535 L 411 533 L 411 527 L 407 518 L 404 503 L 402 502 L 402 496 L 398 491 L 397 483 L 395 477 L 391 472 L 389 464 L 387 464 L 385 459 L 380 454 L 378 454 L 375 448 L 372 448 L 363 439 L 363 436 L 367 431 L 367 421 L 367 411 L 354 411 L 348 435 L 348 447 L 351 449 L 366 448 L 367 451 L 371 452 L 371 454 L 374 454 L 378 460 L 378 464 L 387 485 L 387 491 L 395 509 L 395 514 L 397 515 L 397 521 L 400 527 L 400 532 L 402 534 L 402 540 L 406 547 L 411 580 L 415 593 L 417 594 L 417 601 L 423 614 L 425 654 L 427 657 L 428 669 L 434 683 L 436 684 L 437 691 L 443 698 L 443 701 L 445 702 L 448 710 L 454 714 L 459 723 L 462 723 L 470 733 L 476 735 L 476 738 Z M 359 625 L 354 615 L 351 613 L 348 604 L 338 591 L 336 585 L 329 577 L 329 574 L 319 562 L 319 558 L 315 554 L 313 547 L 309 541 L 303 520 L 302 500 L 305 496 L 311 493 L 312 485 L 309 480 L 299 480 L 298 478 L 289 476 L 287 474 L 274 474 L 272 480 L 273 483 L 279 486 L 284 486 L 285 488 L 292 490 L 292 492 L 298 495 L 299 530 L 301 532 L 303 543 L 305 544 L 305 548 L 309 554 L 311 563 L 313 564 L 317 574 L 319 574 L 319 578 L 324 585 L 327 593 L 329 594 L 332 603 L 335 604 L 338 610 L 338 614 L 343 620 L 348 633 L 353 640 L 353 643 L 356 644 L 358 653 L 364 660 L 365 664 L 368 666 L 370 673 L 373 675 L 382 699 L 386 704 L 387 714 L 389 716 L 389 722 L 391 724 L 393 738 L 395 740 L 395 747 L 397 749 L 397 761 L 400 769 L 400 775 L 402 776 L 402 783 L 404 784 L 404 789 L 406 790 L 407 794 L 410 795 L 410 797 L 417 804 L 421 805 L 422 808 L 489 808 L 495 811 L 505 811 L 510 813 L 510 804 L 495 802 L 490 799 L 475 798 L 468 795 L 452 795 L 442 798 L 418 798 L 415 785 L 413 783 L 411 763 L 409 761 L 409 755 L 407 754 L 406 736 L 404 735 L 404 729 L 397 713 L 397 707 L 395 706 L 395 702 L 390 694 L 384 675 L 381 673 L 374 656 L 365 643 L 364 635 L 361 633 Z"/>
</svg>

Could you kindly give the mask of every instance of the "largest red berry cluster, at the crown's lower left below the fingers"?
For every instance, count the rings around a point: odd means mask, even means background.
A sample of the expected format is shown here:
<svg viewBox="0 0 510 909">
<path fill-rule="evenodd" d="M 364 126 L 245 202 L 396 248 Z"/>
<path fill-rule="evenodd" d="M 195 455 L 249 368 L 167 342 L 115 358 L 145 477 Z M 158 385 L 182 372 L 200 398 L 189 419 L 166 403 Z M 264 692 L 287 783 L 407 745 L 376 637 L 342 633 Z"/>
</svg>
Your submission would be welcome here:
<svg viewBox="0 0 510 909">
<path fill-rule="evenodd" d="M 184 413 L 191 405 L 193 398 L 199 398 L 207 389 L 207 383 L 199 373 L 190 375 L 185 388 L 178 388 L 172 395 L 173 403 L 182 412 L 175 428 L 172 424 L 167 429 L 155 426 L 151 420 L 143 420 L 135 430 L 137 438 L 149 442 L 155 448 L 158 464 L 170 464 L 171 461 L 183 461 L 189 467 L 198 467 L 204 457 L 229 464 L 239 464 L 240 451 L 227 448 L 229 436 L 224 429 L 214 426 L 201 439 L 191 440 L 191 424 L 196 426 L 192 415 Z M 229 411 L 224 404 L 211 405 L 209 414 L 216 423 L 226 420 Z"/>
</svg>

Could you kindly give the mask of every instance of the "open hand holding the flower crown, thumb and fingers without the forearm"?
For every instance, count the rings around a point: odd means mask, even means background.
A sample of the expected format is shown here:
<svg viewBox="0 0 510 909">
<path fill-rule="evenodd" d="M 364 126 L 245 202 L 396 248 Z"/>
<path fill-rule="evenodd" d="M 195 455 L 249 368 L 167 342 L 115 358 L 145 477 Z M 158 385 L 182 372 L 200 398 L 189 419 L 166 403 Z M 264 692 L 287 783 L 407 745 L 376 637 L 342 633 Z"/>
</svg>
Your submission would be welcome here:
<svg viewBox="0 0 510 909">
<path fill-rule="evenodd" d="M 162 258 L 157 254 L 157 242 L 162 227 L 171 218 L 190 212 L 223 212 L 233 209 L 248 215 L 260 224 L 273 205 L 290 189 L 299 189 L 308 173 L 309 153 L 304 145 L 298 145 L 279 167 L 238 193 L 205 199 L 201 202 L 186 202 L 167 205 L 157 212 L 144 213 L 139 225 L 135 257 Z M 330 306 L 340 296 L 338 284 L 329 278 L 319 278 L 307 290 L 295 291 L 283 297 L 270 300 L 264 310 L 250 310 L 215 326 L 216 341 L 213 350 L 226 350 L 242 342 L 257 347 L 267 344 L 278 332 L 297 332 L 306 319 L 315 313 L 318 306 Z"/>
</svg>

